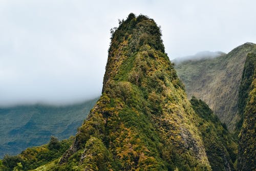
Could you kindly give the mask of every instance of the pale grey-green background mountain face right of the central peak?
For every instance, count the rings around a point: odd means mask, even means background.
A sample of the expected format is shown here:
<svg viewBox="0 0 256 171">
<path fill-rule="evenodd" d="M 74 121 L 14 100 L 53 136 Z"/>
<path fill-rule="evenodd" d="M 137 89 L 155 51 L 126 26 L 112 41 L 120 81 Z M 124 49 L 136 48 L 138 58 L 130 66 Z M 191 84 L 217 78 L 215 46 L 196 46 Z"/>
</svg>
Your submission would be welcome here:
<svg viewBox="0 0 256 171">
<path fill-rule="evenodd" d="M 246 56 L 252 52 L 256 52 L 256 45 L 246 43 L 226 55 L 183 61 L 175 67 L 188 97 L 205 101 L 231 132 L 240 120 L 239 87 Z"/>
</svg>

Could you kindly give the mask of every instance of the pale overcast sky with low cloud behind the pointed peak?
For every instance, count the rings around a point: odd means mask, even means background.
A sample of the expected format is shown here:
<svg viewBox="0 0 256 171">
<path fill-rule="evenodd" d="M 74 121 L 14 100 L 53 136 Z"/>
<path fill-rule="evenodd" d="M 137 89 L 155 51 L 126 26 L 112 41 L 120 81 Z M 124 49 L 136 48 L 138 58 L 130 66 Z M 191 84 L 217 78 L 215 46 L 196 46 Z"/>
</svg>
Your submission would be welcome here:
<svg viewBox="0 0 256 171">
<path fill-rule="evenodd" d="M 256 1 L 0 1 L 0 105 L 99 96 L 110 29 L 131 12 L 162 28 L 170 59 L 256 43 Z"/>
</svg>

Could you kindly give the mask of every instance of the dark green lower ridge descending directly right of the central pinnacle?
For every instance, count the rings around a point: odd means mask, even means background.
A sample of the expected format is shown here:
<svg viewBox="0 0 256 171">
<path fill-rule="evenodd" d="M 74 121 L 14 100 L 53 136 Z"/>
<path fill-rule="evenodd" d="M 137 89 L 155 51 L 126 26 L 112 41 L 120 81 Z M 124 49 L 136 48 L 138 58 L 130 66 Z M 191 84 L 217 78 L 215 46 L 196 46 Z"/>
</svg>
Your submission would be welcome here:
<svg viewBox="0 0 256 171">
<path fill-rule="evenodd" d="M 235 170 L 237 140 L 231 135 L 219 118 L 202 100 L 190 100 L 198 118 L 198 128 L 202 133 L 206 155 L 212 170 Z"/>
</svg>

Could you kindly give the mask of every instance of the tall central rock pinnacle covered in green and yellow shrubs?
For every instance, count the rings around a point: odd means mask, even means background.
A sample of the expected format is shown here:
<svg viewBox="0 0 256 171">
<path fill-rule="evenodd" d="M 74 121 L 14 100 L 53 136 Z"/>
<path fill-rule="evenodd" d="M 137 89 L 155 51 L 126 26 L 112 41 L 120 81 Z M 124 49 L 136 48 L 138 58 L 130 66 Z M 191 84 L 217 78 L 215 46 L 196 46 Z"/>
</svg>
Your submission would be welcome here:
<svg viewBox="0 0 256 171">
<path fill-rule="evenodd" d="M 159 27 L 130 14 L 113 31 L 102 96 L 61 167 L 210 170 L 196 117 Z"/>
</svg>

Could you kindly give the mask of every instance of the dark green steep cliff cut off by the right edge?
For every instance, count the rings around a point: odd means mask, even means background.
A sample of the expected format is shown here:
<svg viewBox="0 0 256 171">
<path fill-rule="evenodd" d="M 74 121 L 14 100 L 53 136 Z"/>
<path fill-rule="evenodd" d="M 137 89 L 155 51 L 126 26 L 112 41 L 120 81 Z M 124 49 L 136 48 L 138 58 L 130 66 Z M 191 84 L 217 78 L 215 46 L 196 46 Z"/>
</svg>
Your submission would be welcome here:
<svg viewBox="0 0 256 171">
<path fill-rule="evenodd" d="M 256 169 L 256 54 L 247 55 L 239 91 L 239 134 L 238 170 Z"/>
</svg>

